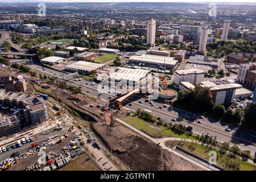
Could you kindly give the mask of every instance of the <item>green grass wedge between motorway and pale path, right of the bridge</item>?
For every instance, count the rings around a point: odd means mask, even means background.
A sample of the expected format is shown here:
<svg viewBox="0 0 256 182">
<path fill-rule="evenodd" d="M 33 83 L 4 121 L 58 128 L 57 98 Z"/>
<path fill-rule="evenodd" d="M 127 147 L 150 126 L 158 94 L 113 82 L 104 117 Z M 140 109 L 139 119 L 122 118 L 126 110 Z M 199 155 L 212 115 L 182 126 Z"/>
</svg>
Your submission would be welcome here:
<svg viewBox="0 0 256 182">
<path fill-rule="evenodd" d="M 143 119 L 136 118 L 133 116 L 121 117 L 120 119 L 122 121 L 128 123 L 129 125 L 135 127 L 136 129 L 144 131 L 151 135 L 156 135 L 160 131 L 166 129 L 166 126 L 152 125 L 152 123 L 150 123 L 150 122 L 144 121 Z M 170 129 L 163 131 L 162 133 L 158 134 L 158 136 L 195 139 L 192 136 L 188 136 L 185 134 L 179 135 L 179 134 L 175 133 L 175 131 L 172 131 Z"/>
</svg>

